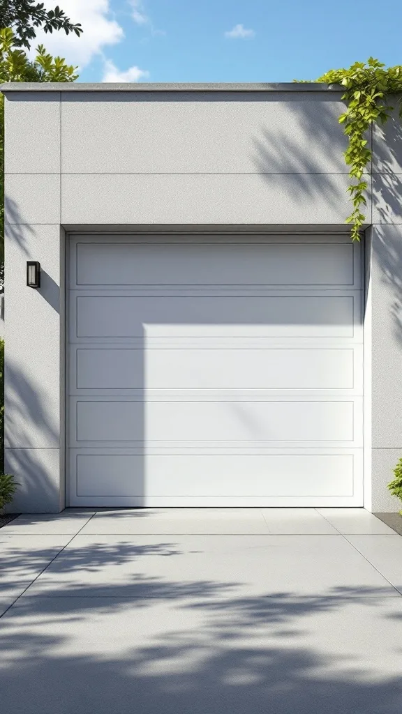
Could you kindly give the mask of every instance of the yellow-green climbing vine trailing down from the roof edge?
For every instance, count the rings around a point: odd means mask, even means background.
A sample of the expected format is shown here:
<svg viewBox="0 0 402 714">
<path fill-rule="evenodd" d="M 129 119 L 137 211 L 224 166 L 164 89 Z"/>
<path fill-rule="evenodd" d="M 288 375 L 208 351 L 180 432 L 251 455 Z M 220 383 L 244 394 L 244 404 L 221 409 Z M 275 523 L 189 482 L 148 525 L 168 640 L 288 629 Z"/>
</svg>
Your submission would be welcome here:
<svg viewBox="0 0 402 714">
<path fill-rule="evenodd" d="M 384 124 L 396 108 L 395 103 L 399 104 L 402 119 L 402 66 L 385 69 L 385 64 L 370 57 L 367 62 L 355 62 L 349 69 L 331 69 L 315 81 L 345 87 L 342 99 L 346 102 L 346 111 L 340 115 L 339 121 L 348 136 L 348 149 L 344 156 L 350 166 L 349 176 L 353 179 L 348 187 L 353 211 L 346 218 L 346 223 L 350 223 L 351 236 L 356 241 L 366 222 L 363 211 L 368 183 L 364 173 L 371 161 L 367 131 L 373 124 Z M 388 101 L 392 101 L 393 106 Z"/>
</svg>

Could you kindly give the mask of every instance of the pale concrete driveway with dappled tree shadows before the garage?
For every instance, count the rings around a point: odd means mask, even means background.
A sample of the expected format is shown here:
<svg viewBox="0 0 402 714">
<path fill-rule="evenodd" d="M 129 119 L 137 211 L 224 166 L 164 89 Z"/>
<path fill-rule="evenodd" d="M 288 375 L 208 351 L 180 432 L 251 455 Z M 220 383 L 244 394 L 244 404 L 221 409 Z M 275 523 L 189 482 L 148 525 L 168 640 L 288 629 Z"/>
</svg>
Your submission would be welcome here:
<svg viewBox="0 0 402 714">
<path fill-rule="evenodd" d="M 400 714 L 402 538 L 361 509 L 0 530 L 4 714 Z"/>
</svg>

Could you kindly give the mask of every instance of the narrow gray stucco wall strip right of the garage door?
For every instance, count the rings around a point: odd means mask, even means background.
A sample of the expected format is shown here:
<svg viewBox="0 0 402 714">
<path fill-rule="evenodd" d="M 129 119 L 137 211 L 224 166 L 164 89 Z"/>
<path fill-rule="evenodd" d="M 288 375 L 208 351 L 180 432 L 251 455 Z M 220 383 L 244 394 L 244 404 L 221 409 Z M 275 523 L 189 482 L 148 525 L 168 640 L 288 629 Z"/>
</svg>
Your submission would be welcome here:
<svg viewBox="0 0 402 714">
<path fill-rule="evenodd" d="M 391 102 L 397 106 L 396 98 Z M 372 503 L 396 511 L 386 484 L 402 456 L 402 131 L 397 111 L 373 130 L 371 243 Z"/>
</svg>

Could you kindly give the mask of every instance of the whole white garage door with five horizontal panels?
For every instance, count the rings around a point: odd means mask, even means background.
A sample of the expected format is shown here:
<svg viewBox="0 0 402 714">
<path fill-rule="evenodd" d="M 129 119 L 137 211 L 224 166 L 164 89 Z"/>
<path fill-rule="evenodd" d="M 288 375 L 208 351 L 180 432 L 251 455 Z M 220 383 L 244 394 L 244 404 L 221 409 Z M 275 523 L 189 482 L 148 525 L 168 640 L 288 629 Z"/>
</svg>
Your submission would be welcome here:
<svg viewBox="0 0 402 714">
<path fill-rule="evenodd" d="M 361 506 L 348 236 L 74 236 L 72 506 Z"/>
</svg>

